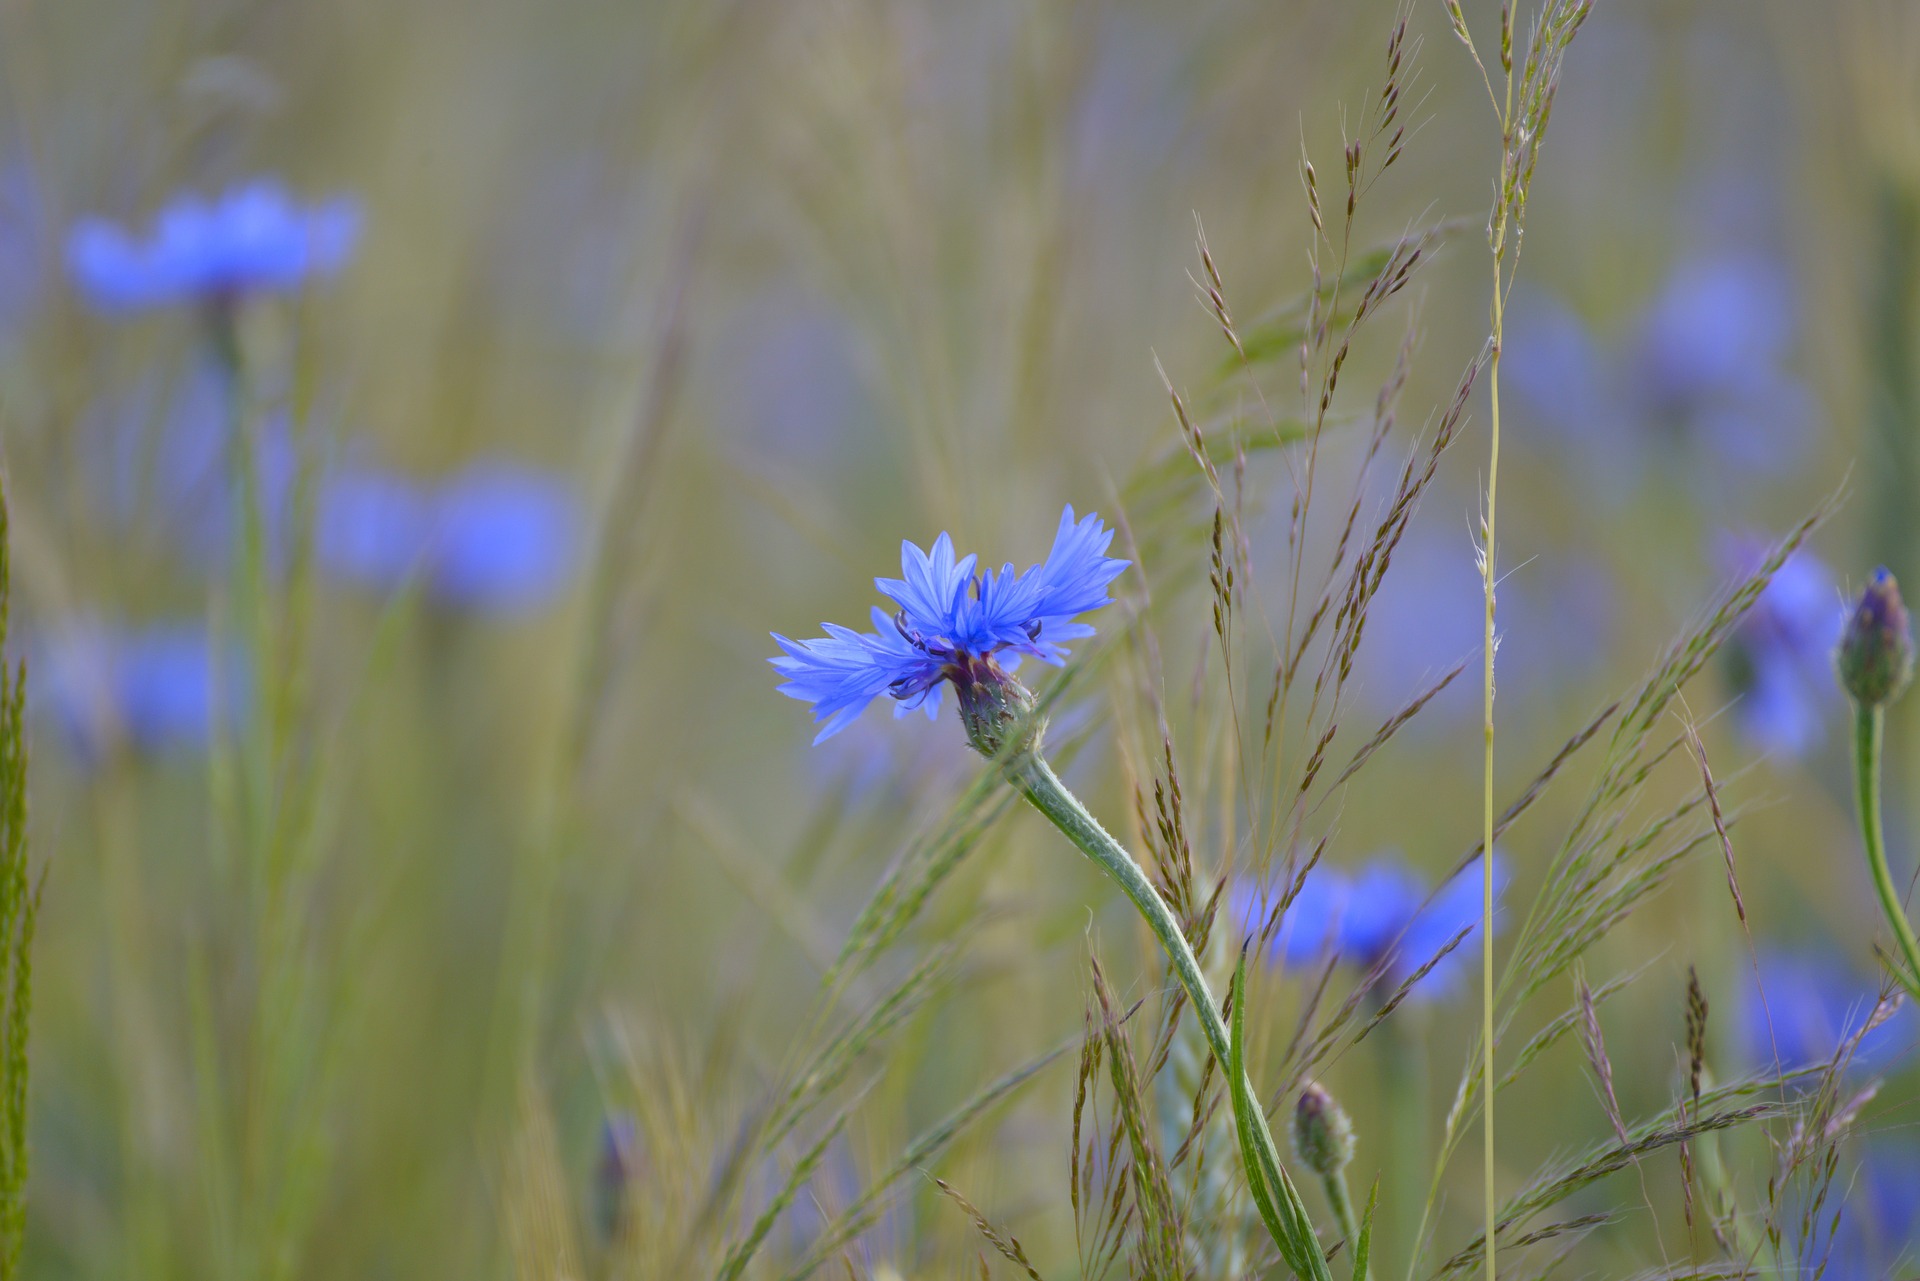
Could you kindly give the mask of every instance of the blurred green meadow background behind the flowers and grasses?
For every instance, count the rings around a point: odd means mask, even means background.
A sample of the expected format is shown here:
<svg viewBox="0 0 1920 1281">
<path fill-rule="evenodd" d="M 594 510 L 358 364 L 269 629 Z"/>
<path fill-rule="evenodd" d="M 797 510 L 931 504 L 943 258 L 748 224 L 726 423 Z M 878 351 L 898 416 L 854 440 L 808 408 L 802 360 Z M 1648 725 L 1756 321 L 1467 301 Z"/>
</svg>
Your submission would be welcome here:
<svg viewBox="0 0 1920 1281">
<path fill-rule="evenodd" d="M 1332 190 L 1342 111 L 1379 92 L 1394 19 L 1304 0 L 0 6 L 0 444 L 48 866 L 29 1275 L 574 1275 L 559 1254 L 528 1262 L 545 1212 L 576 1243 L 566 1258 L 603 1275 L 601 1185 L 691 1198 L 804 1031 L 868 889 L 981 768 L 952 720 L 883 709 L 810 747 L 768 634 L 862 622 L 900 538 L 950 530 L 1025 565 L 1064 503 L 1123 515 L 1127 478 L 1177 447 L 1154 359 L 1190 388 L 1225 355 L 1188 275 L 1194 217 L 1236 315 L 1306 290 L 1300 159 Z M 1498 163 L 1440 4 L 1409 31 L 1417 129 L 1356 240 L 1461 229 L 1348 376 L 1346 409 L 1365 413 L 1417 315 L 1396 465 L 1484 342 Z M 90 309 L 67 232 L 83 215 L 146 229 L 180 190 L 263 173 L 363 209 L 334 278 L 242 315 L 301 457 L 555 478 L 578 524 L 538 605 L 369 592 L 300 555 L 259 603 L 182 547 L 152 486 L 167 424 L 217 415 L 190 396 L 204 328 L 190 309 Z M 1845 484 L 1797 568 L 1801 603 L 1782 599 L 1688 697 L 1749 807 L 1736 853 L 1755 949 L 1822 956 L 1855 1001 L 1878 918 L 1845 705 L 1801 641 L 1820 643 L 1872 565 L 1920 570 L 1916 263 L 1914 6 L 1599 6 L 1509 313 L 1501 795 L 1745 568 L 1740 540 Z M 1294 376 L 1281 361 L 1263 378 L 1288 411 Z M 1369 624 L 1369 722 L 1476 655 L 1482 401 Z M 111 444 L 129 432 L 131 455 Z M 1352 453 L 1329 446 L 1331 474 L 1350 478 Z M 1260 463 L 1248 484 L 1281 599 L 1288 471 Z M 1165 597 L 1150 622 L 1185 707 L 1206 603 L 1187 584 Z M 77 628 L 250 618 L 267 620 L 252 666 L 267 728 L 227 741 L 234 709 L 213 707 L 198 741 L 156 745 L 113 707 L 75 730 L 60 703 Z M 1329 864 L 1398 849 L 1438 876 L 1473 845 L 1469 686 L 1354 784 Z M 1087 747 L 1069 782 L 1123 835 L 1112 713 L 1135 716 L 1133 695 L 1102 676 L 1071 711 Z M 1183 751 L 1206 739 L 1196 724 Z M 1893 753 L 1910 872 L 1910 705 Z M 1513 895 L 1578 795 L 1507 837 Z M 1089 933 L 1123 993 L 1158 981 L 1125 905 L 1027 812 L 993 828 L 920 931 L 964 939 L 962 974 L 876 1064 L 820 1200 L 1075 1033 Z M 1741 1070 L 1751 955 L 1713 855 L 1609 937 L 1596 976 L 1649 968 L 1605 1020 L 1628 1112 L 1670 1097 L 1690 964 L 1718 1072 Z M 1467 985 L 1405 1020 L 1434 1066 L 1432 1116 L 1473 1020 Z M 1920 1120 L 1901 1037 L 1864 1125 L 1887 1150 Z M 1331 1081 L 1361 1185 L 1396 1145 L 1432 1143 L 1380 1133 L 1384 1052 L 1363 1043 Z M 1050 1068 L 935 1166 L 1048 1277 L 1075 1275 L 1071 1085 Z M 682 1150 L 622 1147 L 609 1173 L 609 1125 L 649 1110 L 676 1118 Z M 1571 1047 L 1501 1114 L 1519 1118 L 1513 1172 L 1605 1127 Z M 1442 1258 L 1473 1231 L 1476 1187 L 1463 1160 Z M 1665 1195 L 1651 1218 L 1684 1237 Z M 1661 1262 L 1657 1241 L 1634 1210 L 1582 1258 L 1624 1275 Z M 1407 1246 L 1380 1248 L 1402 1268 Z M 977 1275 L 977 1248 L 916 1175 L 847 1269 Z"/>
</svg>

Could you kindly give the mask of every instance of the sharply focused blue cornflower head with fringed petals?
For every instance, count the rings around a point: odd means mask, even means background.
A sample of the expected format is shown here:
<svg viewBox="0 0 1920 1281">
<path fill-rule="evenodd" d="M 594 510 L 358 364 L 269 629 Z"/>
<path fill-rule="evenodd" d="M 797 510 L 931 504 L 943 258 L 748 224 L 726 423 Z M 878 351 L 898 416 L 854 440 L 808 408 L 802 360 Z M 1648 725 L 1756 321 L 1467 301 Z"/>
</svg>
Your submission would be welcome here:
<svg viewBox="0 0 1920 1281">
<path fill-rule="evenodd" d="M 1062 641 L 1092 636 L 1092 626 L 1075 618 L 1112 603 L 1108 586 L 1127 568 L 1106 555 L 1112 542 L 1114 530 L 1100 517 L 1075 519 L 1069 505 L 1052 551 L 1018 574 L 1012 565 L 975 572 L 979 559 L 958 557 L 947 534 L 931 551 L 900 544 L 900 576 L 874 580 L 895 613 L 876 605 L 872 632 L 828 622 L 816 640 L 774 634 L 785 651 L 768 659 L 787 678 L 780 691 L 814 705 L 818 743 L 883 693 L 893 697 L 895 716 L 924 711 L 931 720 L 950 682 L 970 741 L 991 755 L 987 722 L 1006 713 L 1004 699 L 1025 697 L 1006 674 L 1021 657 L 1066 663 Z"/>
</svg>

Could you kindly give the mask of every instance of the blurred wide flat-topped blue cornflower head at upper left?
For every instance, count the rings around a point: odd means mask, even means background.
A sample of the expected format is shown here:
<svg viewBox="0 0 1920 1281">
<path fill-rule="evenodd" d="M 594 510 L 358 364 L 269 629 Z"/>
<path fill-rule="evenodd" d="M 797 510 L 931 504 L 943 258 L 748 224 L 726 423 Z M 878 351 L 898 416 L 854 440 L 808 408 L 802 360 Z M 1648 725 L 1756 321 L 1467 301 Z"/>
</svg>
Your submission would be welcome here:
<svg viewBox="0 0 1920 1281">
<path fill-rule="evenodd" d="M 280 182 L 253 179 L 211 202 L 175 198 L 144 240 L 81 219 L 67 236 L 67 267 L 100 311 L 282 294 L 338 273 L 359 229 L 355 200 L 301 207 Z"/>
</svg>

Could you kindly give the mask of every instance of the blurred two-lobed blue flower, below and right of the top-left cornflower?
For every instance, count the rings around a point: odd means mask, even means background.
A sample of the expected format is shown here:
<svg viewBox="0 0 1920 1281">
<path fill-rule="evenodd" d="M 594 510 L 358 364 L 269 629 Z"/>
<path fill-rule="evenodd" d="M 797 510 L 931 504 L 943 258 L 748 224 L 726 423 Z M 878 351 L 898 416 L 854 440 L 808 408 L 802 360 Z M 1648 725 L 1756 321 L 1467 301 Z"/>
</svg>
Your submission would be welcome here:
<svg viewBox="0 0 1920 1281">
<path fill-rule="evenodd" d="M 580 553 L 582 511 L 564 478 L 482 459 L 438 486 L 349 467 L 317 501 L 323 570 L 392 590 L 422 574 L 434 599 L 480 613 L 524 613 L 551 601 Z"/>
</svg>

